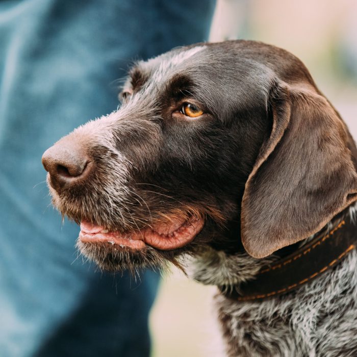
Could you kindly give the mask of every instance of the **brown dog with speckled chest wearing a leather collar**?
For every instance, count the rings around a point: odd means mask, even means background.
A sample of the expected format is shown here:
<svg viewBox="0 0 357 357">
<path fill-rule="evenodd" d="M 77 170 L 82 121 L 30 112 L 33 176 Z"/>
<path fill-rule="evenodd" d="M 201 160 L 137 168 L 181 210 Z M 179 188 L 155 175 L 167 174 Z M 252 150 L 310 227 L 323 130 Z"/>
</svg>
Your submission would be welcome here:
<svg viewBox="0 0 357 357">
<path fill-rule="evenodd" d="M 100 269 L 216 285 L 227 356 L 357 355 L 357 149 L 309 71 L 254 41 L 139 61 L 42 157 Z"/>
</svg>

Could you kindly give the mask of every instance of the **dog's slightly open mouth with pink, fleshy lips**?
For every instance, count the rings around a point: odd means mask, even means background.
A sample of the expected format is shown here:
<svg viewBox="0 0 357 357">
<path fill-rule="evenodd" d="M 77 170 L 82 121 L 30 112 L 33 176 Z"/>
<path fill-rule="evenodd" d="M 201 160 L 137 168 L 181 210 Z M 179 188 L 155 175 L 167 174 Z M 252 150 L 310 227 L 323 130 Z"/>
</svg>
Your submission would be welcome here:
<svg viewBox="0 0 357 357">
<path fill-rule="evenodd" d="M 203 224 L 201 218 L 171 220 L 122 233 L 82 220 L 79 240 L 83 243 L 105 244 L 115 249 L 120 247 L 141 250 L 148 245 L 159 250 L 173 250 L 190 243 L 202 230 Z"/>
</svg>

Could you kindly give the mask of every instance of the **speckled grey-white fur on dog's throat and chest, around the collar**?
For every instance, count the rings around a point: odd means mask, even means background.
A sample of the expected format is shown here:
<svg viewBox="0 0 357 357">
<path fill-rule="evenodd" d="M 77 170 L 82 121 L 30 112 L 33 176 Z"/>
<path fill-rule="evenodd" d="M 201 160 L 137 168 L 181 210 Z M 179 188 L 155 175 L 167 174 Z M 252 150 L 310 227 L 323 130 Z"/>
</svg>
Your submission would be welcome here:
<svg viewBox="0 0 357 357">
<path fill-rule="evenodd" d="M 352 222 L 356 206 L 350 208 Z M 203 284 L 239 284 L 266 259 L 207 251 L 191 272 Z M 295 292 L 261 302 L 214 297 L 227 356 L 357 355 L 357 253 Z"/>
</svg>

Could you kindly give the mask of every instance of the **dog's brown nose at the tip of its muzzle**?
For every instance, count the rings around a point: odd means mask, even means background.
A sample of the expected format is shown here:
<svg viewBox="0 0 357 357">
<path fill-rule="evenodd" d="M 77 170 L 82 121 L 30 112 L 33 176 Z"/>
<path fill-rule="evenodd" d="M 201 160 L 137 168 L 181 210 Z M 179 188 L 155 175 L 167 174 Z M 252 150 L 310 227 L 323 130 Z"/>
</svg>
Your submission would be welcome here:
<svg viewBox="0 0 357 357">
<path fill-rule="evenodd" d="M 89 173 L 89 160 L 80 145 L 59 141 L 42 156 L 42 165 L 49 173 L 51 186 L 60 191 L 78 183 Z"/>
</svg>

